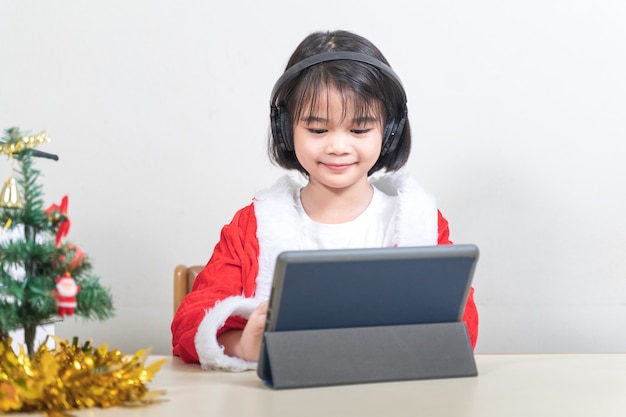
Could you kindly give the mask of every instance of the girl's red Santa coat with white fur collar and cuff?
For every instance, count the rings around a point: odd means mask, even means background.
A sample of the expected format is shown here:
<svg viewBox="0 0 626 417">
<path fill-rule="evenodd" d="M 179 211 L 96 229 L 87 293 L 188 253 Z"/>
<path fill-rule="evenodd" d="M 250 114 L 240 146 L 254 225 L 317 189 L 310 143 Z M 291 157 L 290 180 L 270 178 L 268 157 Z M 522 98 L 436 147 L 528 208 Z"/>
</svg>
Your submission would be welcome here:
<svg viewBox="0 0 626 417">
<path fill-rule="evenodd" d="M 404 173 L 372 179 L 372 185 L 394 196 L 392 240 L 395 246 L 451 244 L 448 222 L 435 199 Z M 204 369 L 243 371 L 256 362 L 224 354 L 217 336 L 243 329 L 247 317 L 269 298 L 278 254 L 301 247 L 302 220 L 296 209 L 302 178 L 285 176 L 258 193 L 222 229 L 220 241 L 192 292 L 172 322 L 173 354 Z M 463 321 L 472 347 L 478 335 L 478 313 L 470 291 Z"/>
</svg>

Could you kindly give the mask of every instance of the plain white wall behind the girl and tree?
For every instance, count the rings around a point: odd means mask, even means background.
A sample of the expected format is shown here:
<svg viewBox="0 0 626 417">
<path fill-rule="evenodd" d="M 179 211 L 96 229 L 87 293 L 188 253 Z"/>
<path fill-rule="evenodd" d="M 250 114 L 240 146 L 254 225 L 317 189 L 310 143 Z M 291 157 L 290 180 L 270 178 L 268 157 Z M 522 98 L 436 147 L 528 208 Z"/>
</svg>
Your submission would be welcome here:
<svg viewBox="0 0 626 417">
<path fill-rule="evenodd" d="M 57 334 L 169 353 L 174 266 L 279 175 L 273 83 L 343 28 L 403 79 L 408 170 L 481 248 L 477 350 L 626 350 L 625 21 L 618 0 L 0 2 L 0 128 L 53 138 L 46 201 L 69 195 L 117 307 Z"/>
</svg>

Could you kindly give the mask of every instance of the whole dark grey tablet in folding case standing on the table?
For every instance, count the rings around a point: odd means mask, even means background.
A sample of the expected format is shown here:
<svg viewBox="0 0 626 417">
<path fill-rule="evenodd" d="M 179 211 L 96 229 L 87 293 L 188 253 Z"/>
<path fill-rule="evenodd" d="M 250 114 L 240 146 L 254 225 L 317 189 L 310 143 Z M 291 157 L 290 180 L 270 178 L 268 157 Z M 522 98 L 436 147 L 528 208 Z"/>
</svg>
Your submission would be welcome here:
<svg viewBox="0 0 626 417">
<path fill-rule="evenodd" d="M 290 251 L 257 373 L 275 389 L 477 375 L 461 317 L 474 245 Z"/>
</svg>

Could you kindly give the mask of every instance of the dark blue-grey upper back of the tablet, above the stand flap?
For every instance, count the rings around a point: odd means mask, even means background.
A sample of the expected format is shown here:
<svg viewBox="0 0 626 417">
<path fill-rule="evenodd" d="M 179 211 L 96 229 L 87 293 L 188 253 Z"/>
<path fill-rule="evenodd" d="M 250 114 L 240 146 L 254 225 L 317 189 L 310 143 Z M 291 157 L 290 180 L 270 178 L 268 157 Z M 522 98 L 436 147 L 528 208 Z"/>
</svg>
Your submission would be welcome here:
<svg viewBox="0 0 626 417">
<path fill-rule="evenodd" d="M 265 332 L 461 321 L 478 254 L 471 244 L 283 252 Z M 257 374 L 271 380 L 265 341 Z"/>
</svg>

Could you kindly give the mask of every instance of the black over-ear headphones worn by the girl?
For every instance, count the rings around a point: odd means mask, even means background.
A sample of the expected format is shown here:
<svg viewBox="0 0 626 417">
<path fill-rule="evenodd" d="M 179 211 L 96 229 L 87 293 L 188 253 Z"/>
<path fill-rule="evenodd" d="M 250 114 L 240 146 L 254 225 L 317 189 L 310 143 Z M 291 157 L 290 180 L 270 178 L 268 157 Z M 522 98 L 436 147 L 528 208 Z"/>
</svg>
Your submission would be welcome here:
<svg viewBox="0 0 626 417">
<path fill-rule="evenodd" d="M 283 86 L 283 84 L 293 80 L 300 72 L 312 67 L 313 65 L 337 60 L 358 61 L 369 64 L 383 72 L 398 86 L 398 89 L 402 93 L 402 100 L 404 103 L 403 108 L 399 118 L 394 116 L 387 118 L 385 128 L 383 130 L 383 145 L 380 153 L 381 155 L 385 155 L 389 152 L 393 152 L 398 146 L 398 142 L 402 136 L 402 130 L 404 129 L 404 124 L 406 123 L 407 107 L 404 87 L 400 82 L 400 78 L 389 65 L 386 65 L 376 58 L 372 58 L 369 55 L 359 52 L 323 52 L 321 54 L 305 58 L 289 67 L 283 75 L 280 76 L 278 81 L 276 81 L 276 84 L 274 84 L 274 88 L 272 89 L 272 98 L 270 100 L 270 124 L 272 137 L 278 142 L 278 146 L 282 151 L 293 151 L 293 138 L 291 137 L 291 120 L 289 119 L 289 114 L 286 109 L 276 105 L 276 93 Z"/>
</svg>

